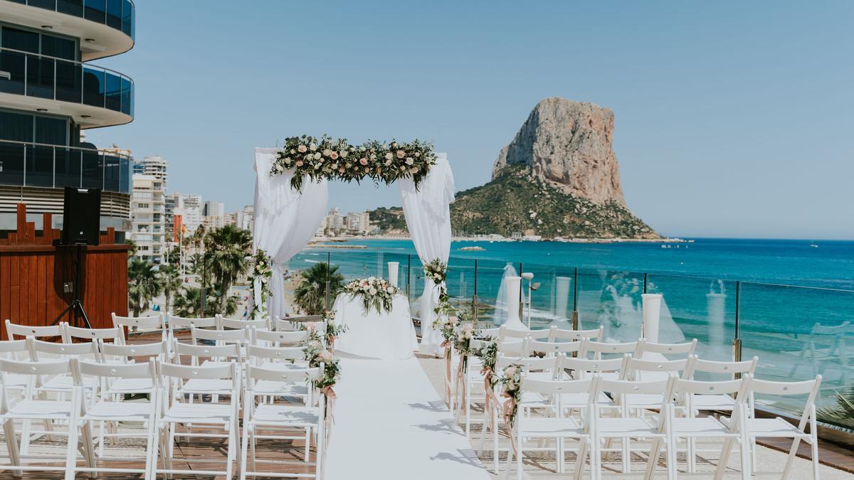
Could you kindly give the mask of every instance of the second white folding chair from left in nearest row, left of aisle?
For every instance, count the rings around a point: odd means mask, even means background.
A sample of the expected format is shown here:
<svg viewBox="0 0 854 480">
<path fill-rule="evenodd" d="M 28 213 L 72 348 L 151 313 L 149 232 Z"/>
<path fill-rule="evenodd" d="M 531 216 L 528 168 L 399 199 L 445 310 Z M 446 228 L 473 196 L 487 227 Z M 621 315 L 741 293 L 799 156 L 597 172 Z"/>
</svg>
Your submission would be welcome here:
<svg viewBox="0 0 854 480">
<path fill-rule="evenodd" d="M 83 404 L 82 414 L 80 417 L 81 428 L 91 432 L 93 422 L 97 422 L 100 426 L 98 435 L 98 455 L 97 460 L 110 461 L 132 461 L 139 460 L 139 457 L 128 457 L 118 455 L 104 455 L 104 439 L 108 438 L 111 444 L 114 444 L 116 438 L 135 438 L 140 437 L 145 439 L 145 465 L 143 468 L 125 468 L 111 466 L 87 466 L 85 468 L 75 467 L 74 471 L 85 472 L 116 472 L 116 473 L 143 473 L 145 478 L 155 478 L 153 469 L 154 456 L 158 448 L 158 435 L 156 424 L 158 419 L 158 392 L 159 385 L 157 380 L 157 370 L 155 367 L 155 359 L 150 358 L 147 362 L 129 363 L 125 365 L 108 365 L 102 363 L 93 363 L 88 361 L 80 361 L 80 374 L 85 378 L 91 376 L 98 378 L 101 385 L 115 385 L 119 383 L 134 384 L 136 388 L 125 388 L 121 390 L 121 394 L 136 394 L 148 395 L 149 401 L 123 401 L 124 395 L 117 395 L 115 389 L 109 389 L 100 395 L 100 400 L 96 401 L 91 407 Z M 129 383 L 130 382 L 130 383 Z M 103 425 L 118 424 L 126 422 L 125 429 L 119 431 L 113 429 L 108 433 L 103 431 Z M 142 423 L 143 431 L 128 430 L 127 423 Z"/>
</svg>

